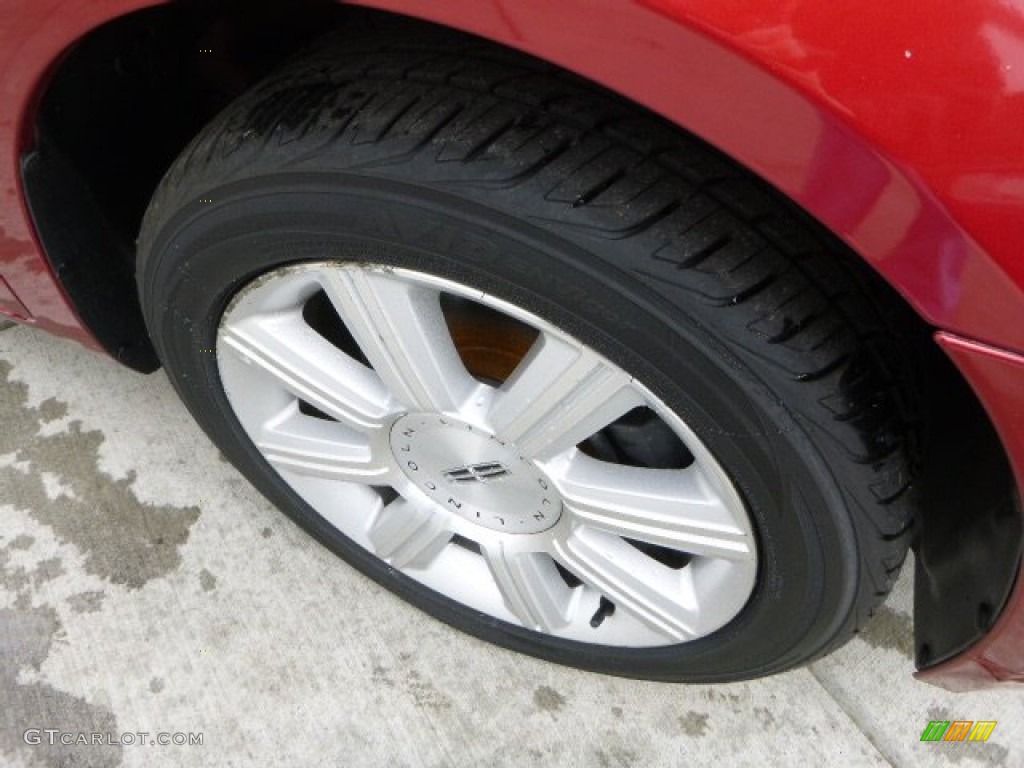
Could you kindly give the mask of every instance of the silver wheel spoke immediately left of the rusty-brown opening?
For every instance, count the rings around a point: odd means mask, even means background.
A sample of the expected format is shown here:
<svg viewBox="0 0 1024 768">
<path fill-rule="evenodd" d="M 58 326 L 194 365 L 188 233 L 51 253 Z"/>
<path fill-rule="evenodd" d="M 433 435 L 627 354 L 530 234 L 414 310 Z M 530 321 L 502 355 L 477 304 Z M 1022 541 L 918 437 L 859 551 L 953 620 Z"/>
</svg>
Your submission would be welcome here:
<svg viewBox="0 0 1024 768">
<path fill-rule="evenodd" d="M 440 293 L 380 270 L 326 270 L 335 310 L 395 397 L 418 411 L 454 413 L 476 382 L 459 356 Z"/>
</svg>

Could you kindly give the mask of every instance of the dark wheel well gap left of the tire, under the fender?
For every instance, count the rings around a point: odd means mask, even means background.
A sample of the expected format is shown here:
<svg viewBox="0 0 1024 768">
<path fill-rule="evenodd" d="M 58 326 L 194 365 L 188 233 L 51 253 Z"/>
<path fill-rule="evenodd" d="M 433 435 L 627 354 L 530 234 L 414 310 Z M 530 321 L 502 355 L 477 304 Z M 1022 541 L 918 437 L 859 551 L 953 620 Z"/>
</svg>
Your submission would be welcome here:
<svg viewBox="0 0 1024 768">
<path fill-rule="evenodd" d="M 331 0 L 181 2 L 91 31 L 57 63 L 22 159 L 43 250 L 115 357 L 159 362 L 135 296 L 135 238 L 161 177 L 225 104 L 347 9 Z"/>
</svg>

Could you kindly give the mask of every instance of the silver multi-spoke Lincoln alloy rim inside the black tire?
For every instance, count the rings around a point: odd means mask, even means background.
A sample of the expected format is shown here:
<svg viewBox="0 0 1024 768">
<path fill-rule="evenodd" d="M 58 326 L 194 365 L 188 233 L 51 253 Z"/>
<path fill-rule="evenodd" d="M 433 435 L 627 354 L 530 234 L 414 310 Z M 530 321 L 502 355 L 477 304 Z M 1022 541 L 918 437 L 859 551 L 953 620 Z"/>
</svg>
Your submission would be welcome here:
<svg viewBox="0 0 1024 768">
<path fill-rule="evenodd" d="M 307 322 L 321 292 L 369 366 Z M 442 294 L 538 332 L 504 383 L 467 371 Z M 649 647 L 714 632 L 751 596 L 751 521 L 700 440 L 623 370 L 507 302 L 406 269 L 307 263 L 243 288 L 216 351 L 231 408 L 284 480 L 453 600 L 561 638 Z M 578 447 L 637 408 L 693 461 L 648 469 Z M 667 565 L 644 545 L 686 557 Z"/>
</svg>

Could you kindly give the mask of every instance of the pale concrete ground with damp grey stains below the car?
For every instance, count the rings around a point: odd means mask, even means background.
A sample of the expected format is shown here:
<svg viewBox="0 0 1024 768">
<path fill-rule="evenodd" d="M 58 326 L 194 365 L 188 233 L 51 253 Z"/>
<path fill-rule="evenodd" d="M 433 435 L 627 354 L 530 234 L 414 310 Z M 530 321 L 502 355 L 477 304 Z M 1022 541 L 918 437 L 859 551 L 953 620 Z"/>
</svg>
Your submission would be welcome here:
<svg viewBox="0 0 1024 768">
<path fill-rule="evenodd" d="M 562 669 L 434 622 L 313 544 L 163 374 L 0 331 L 2 766 L 1024 766 L 1020 689 L 910 677 L 909 574 L 858 639 L 768 680 Z M 920 741 L 958 719 L 998 724 L 986 743 Z M 59 743 L 80 732 L 135 743 Z"/>
</svg>

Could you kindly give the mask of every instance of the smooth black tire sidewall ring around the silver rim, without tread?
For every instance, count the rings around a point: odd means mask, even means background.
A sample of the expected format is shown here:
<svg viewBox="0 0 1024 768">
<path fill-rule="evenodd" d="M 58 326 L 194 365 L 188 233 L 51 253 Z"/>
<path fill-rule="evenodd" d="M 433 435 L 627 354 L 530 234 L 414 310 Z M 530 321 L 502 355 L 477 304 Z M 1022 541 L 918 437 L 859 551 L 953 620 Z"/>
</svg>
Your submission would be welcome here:
<svg viewBox="0 0 1024 768">
<path fill-rule="evenodd" d="M 212 189 L 150 220 L 140 241 L 146 323 L 168 375 L 207 434 L 270 501 L 362 572 L 482 639 L 598 672 L 711 682 L 757 677 L 820 652 L 849 614 L 858 552 L 827 462 L 758 360 L 699 308 L 653 294 L 628 255 L 589 248 L 464 197 L 345 173 L 272 174 Z M 243 286 L 272 269 L 337 260 L 435 274 L 519 306 L 618 365 L 682 418 L 726 470 L 758 539 L 743 610 L 699 640 L 650 649 L 541 635 L 460 605 L 329 525 L 270 468 L 220 384 L 216 332 Z"/>
</svg>

